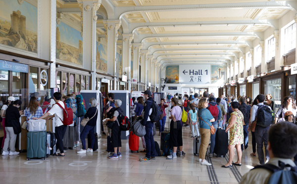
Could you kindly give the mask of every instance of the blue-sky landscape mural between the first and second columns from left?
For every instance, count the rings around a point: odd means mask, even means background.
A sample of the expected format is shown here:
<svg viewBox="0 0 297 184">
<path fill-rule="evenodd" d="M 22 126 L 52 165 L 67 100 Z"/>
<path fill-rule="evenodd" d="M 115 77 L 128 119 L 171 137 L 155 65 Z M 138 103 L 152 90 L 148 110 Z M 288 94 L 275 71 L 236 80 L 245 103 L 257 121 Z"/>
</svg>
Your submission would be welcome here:
<svg viewBox="0 0 297 184">
<path fill-rule="evenodd" d="M 56 27 L 56 58 L 83 65 L 83 37 L 63 22 Z"/>
</svg>

